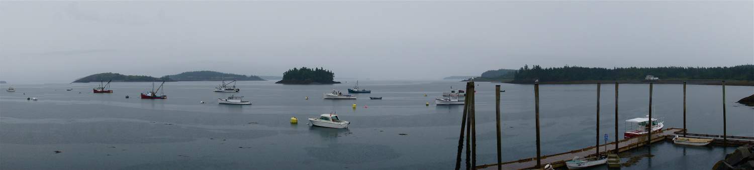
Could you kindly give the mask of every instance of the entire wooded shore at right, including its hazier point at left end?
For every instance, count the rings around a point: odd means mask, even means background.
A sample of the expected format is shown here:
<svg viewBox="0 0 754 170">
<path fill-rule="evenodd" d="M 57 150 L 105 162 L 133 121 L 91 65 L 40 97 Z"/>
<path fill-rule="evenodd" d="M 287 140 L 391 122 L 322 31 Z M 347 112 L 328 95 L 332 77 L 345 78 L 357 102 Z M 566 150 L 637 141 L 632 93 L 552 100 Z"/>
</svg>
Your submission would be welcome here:
<svg viewBox="0 0 754 170">
<path fill-rule="evenodd" d="M 647 76 L 657 79 L 647 79 Z M 728 85 L 754 86 L 754 65 L 733 67 L 655 67 L 655 68 L 587 68 L 564 66 L 542 68 L 539 65 L 524 65 L 512 77 L 483 77 L 477 81 L 504 81 L 507 83 L 682 83 L 719 84 L 728 80 Z M 512 79 L 512 80 L 511 80 Z"/>
</svg>

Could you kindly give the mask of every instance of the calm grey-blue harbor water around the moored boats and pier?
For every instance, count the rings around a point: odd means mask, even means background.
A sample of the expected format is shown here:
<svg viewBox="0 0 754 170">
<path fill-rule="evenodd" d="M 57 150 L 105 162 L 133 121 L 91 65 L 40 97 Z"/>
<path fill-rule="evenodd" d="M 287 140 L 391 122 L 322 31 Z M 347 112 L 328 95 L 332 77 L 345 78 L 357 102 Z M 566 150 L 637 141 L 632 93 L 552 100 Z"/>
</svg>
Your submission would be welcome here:
<svg viewBox="0 0 754 170">
<path fill-rule="evenodd" d="M 0 169 L 453 167 L 463 106 L 434 105 L 434 97 L 464 83 L 360 80 L 360 87 L 371 94 L 356 94 L 355 101 L 322 99 L 322 93 L 333 89 L 345 92 L 355 83 L 351 81 L 240 81 L 241 93 L 213 93 L 219 82 L 168 82 L 164 100 L 139 99 L 152 83 L 113 83 L 112 94 L 91 93 L 99 83 L 17 84 L 16 93 L 0 92 Z M 503 160 L 535 156 L 533 86 L 479 82 L 478 164 L 496 161 L 497 84 L 506 90 L 501 96 Z M 754 136 L 754 109 L 734 103 L 754 93 L 754 87 L 726 88 L 728 135 Z M 543 154 L 593 145 L 596 85 L 541 85 L 540 90 Z M 603 84 L 600 134 L 607 133 L 610 141 L 615 140 L 614 93 L 612 84 Z M 253 105 L 217 104 L 217 98 L 229 95 L 245 96 Z M 647 84 L 621 84 L 621 132 L 624 120 L 648 113 L 648 95 Z M 351 108 L 354 102 L 356 109 Z M 666 127 L 682 127 L 682 85 L 655 85 L 653 102 L 654 117 L 664 118 Z M 326 129 L 306 124 L 305 118 L 330 112 L 351 121 L 351 126 Z M 290 117 L 298 117 L 299 124 L 290 124 Z M 722 134 L 721 87 L 688 85 L 687 126 L 689 132 Z M 711 168 L 732 151 L 660 143 L 652 148 L 654 157 L 624 169 Z"/>
</svg>

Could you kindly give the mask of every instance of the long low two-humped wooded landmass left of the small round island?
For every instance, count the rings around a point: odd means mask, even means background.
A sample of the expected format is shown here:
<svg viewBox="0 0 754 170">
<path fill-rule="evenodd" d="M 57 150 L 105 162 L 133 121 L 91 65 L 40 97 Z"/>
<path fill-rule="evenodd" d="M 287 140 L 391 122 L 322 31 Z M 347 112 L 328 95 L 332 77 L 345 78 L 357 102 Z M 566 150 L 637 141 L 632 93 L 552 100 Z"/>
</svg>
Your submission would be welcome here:
<svg viewBox="0 0 754 170">
<path fill-rule="evenodd" d="M 151 77 L 145 75 L 124 75 L 118 73 L 91 74 L 79 78 L 73 83 L 89 83 L 112 80 L 113 82 L 152 82 L 152 81 L 219 81 L 219 80 L 264 80 L 255 75 L 229 74 L 218 71 L 187 71 L 180 74 Z"/>
</svg>

